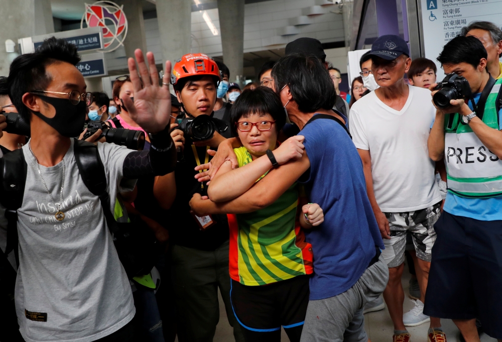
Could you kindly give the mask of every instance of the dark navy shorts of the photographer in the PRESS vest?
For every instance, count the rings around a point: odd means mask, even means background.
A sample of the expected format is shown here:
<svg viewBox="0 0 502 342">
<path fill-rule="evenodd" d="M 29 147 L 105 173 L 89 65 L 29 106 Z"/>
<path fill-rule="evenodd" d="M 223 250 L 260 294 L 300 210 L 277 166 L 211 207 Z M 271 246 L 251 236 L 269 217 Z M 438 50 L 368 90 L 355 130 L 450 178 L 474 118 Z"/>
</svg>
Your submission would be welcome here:
<svg viewBox="0 0 502 342">
<path fill-rule="evenodd" d="M 502 339 L 502 221 L 480 221 L 443 211 L 434 230 L 424 314 L 478 318 Z"/>
</svg>

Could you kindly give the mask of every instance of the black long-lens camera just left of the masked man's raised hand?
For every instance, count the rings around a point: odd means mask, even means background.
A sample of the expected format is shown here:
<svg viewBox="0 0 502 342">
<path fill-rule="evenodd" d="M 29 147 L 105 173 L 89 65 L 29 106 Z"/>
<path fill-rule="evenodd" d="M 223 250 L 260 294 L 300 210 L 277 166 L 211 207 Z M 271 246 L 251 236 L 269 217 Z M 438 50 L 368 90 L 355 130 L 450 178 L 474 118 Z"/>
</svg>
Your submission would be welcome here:
<svg viewBox="0 0 502 342">
<path fill-rule="evenodd" d="M 107 143 L 126 146 L 131 150 L 141 151 L 145 147 L 145 132 L 128 130 L 125 128 L 109 127 L 102 121 L 89 121 L 86 126 L 87 132 L 84 135 L 84 140 L 92 136 L 97 130 L 102 130 L 103 133 L 98 139 L 105 138 Z M 97 139 L 97 140 L 98 140 Z"/>
</svg>

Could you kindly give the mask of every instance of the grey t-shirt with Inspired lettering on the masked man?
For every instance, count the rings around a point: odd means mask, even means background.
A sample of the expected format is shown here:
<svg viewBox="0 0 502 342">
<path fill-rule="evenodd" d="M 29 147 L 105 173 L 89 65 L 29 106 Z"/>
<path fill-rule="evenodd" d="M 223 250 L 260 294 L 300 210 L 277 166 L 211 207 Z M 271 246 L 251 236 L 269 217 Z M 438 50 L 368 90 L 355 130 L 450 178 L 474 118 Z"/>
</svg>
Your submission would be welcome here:
<svg viewBox="0 0 502 342">
<path fill-rule="evenodd" d="M 136 181 L 121 182 L 123 161 L 132 151 L 108 143 L 98 143 L 97 148 L 110 198 L 117 191 L 134 189 Z M 28 172 L 18 210 L 15 292 L 21 334 L 27 342 L 88 342 L 109 335 L 133 319 L 133 293 L 99 198 L 87 189 L 78 172 L 73 139 L 64 156 L 62 221 L 54 217 L 56 209 L 28 145 L 23 153 Z M 40 171 L 59 203 L 63 162 L 40 165 Z M 111 212 L 114 206 L 113 200 Z"/>
</svg>

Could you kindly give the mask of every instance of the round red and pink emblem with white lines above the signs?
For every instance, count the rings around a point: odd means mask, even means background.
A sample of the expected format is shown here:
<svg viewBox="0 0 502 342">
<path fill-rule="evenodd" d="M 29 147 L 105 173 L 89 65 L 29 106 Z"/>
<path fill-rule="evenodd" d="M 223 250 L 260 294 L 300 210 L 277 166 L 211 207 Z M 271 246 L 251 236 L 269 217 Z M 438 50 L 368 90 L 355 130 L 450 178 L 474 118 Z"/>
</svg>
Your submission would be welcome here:
<svg viewBox="0 0 502 342">
<path fill-rule="evenodd" d="M 101 27 L 103 30 L 104 52 L 111 52 L 119 46 L 127 35 L 127 18 L 123 13 L 123 5 L 118 6 L 111 1 L 98 1 L 92 5 L 85 4 L 85 13 L 80 27 Z"/>
</svg>

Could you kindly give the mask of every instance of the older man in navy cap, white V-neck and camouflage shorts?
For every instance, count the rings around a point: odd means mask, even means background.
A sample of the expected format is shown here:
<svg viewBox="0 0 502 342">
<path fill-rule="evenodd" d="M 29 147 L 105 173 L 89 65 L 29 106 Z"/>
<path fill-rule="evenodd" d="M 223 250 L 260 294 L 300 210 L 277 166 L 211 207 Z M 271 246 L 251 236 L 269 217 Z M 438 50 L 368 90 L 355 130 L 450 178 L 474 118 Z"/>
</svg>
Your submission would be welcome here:
<svg viewBox="0 0 502 342">
<path fill-rule="evenodd" d="M 433 224 L 439 217 L 441 195 L 429 158 L 427 138 L 435 109 L 427 89 L 409 86 L 404 75 L 411 65 L 406 42 L 394 35 L 372 45 L 371 72 L 380 88 L 354 103 L 350 133 L 361 156 L 369 201 L 379 224 L 389 266 L 384 299 L 394 322 L 394 342 L 408 342 L 405 325 L 431 321 L 429 340 L 445 338 L 438 318 L 423 314 L 425 289 L 436 240 Z M 418 257 L 421 298 L 403 315 L 406 235 L 410 232 Z"/>
</svg>

